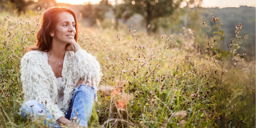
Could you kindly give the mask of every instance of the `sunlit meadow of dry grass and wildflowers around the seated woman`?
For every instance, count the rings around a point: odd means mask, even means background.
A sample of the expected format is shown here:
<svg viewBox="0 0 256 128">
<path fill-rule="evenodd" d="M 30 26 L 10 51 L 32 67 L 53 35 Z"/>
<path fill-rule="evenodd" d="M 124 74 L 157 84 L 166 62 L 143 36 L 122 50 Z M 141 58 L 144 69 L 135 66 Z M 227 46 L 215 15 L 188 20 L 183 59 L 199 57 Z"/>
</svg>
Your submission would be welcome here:
<svg viewBox="0 0 256 128">
<path fill-rule="evenodd" d="M 25 122 L 18 114 L 23 102 L 20 59 L 35 44 L 41 16 L 0 14 L 1 128 L 47 127 L 44 119 Z M 148 36 L 79 23 L 77 43 L 96 56 L 103 73 L 91 128 L 255 127 L 255 61 L 240 59 L 232 66 L 227 59 L 221 75 L 205 57 L 207 40 L 213 44 L 215 37 L 180 29 L 181 34 Z"/>
</svg>

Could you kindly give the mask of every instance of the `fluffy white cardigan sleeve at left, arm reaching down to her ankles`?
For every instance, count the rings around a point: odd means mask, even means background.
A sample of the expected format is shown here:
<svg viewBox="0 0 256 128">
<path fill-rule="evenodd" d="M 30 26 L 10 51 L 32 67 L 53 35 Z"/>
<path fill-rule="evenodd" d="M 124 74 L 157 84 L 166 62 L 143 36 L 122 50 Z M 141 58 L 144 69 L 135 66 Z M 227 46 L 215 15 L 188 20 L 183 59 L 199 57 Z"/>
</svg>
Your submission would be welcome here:
<svg viewBox="0 0 256 128">
<path fill-rule="evenodd" d="M 54 82 L 54 77 L 49 77 L 50 71 L 44 68 L 44 60 L 38 52 L 27 52 L 20 62 L 20 80 L 23 84 L 24 102 L 36 100 L 39 103 L 43 102 L 46 110 L 52 113 L 54 121 L 56 121 L 64 113 L 59 109 L 56 101 L 57 93 L 54 92 L 54 87 L 57 87 Z M 45 104 L 47 101 L 47 104 Z"/>
</svg>

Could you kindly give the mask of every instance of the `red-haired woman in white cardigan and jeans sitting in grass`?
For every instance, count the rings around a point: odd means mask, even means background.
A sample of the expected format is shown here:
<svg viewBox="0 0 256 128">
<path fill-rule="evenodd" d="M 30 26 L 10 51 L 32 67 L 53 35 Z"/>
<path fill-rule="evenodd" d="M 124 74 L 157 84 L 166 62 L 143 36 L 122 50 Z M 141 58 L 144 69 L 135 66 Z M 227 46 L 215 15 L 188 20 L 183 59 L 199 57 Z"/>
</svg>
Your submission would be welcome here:
<svg viewBox="0 0 256 128">
<path fill-rule="evenodd" d="M 45 11 L 36 47 L 21 60 L 24 104 L 23 118 L 45 116 L 55 124 L 87 127 L 97 85 L 102 76 L 96 58 L 76 43 L 78 27 L 75 13 L 65 7 Z M 76 119 L 77 118 L 77 119 Z"/>
</svg>

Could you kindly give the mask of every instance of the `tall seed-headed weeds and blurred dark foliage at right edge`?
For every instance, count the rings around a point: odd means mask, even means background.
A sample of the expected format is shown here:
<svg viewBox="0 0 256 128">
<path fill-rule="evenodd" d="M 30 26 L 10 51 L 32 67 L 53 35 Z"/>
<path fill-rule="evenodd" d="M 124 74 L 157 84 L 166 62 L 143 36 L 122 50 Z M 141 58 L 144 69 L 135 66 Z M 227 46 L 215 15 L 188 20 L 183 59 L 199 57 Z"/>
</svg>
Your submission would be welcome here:
<svg viewBox="0 0 256 128">
<path fill-rule="evenodd" d="M 256 119 L 254 114 L 254 108 L 256 107 L 255 82 L 253 82 L 255 81 L 255 73 L 253 73 L 254 71 L 245 71 L 244 67 L 241 69 L 241 65 L 239 66 L 240 69 L 237 68 L 238 63 L 244 60 L 246 52 L 244 52 L 243 55 L 236 54 L 236 49 L 240 47 L 244 40 L 247 40 L 248 35 L 245 35 L 244 38 L 239 36 L 239 32 L 242 28 L 242 24 L 239 23 L 235 30 L 236 39 L 231 38 L 231 43 L 228 46 L 224 40 L 225 33 L 220 28 L 220 25 L 223 25 L 222 22 L 218 17 L 212 17 L 211 21 L 213 21 L 216 31 L 208 28 L 204 21 L 202 21 L 202 24 L 207 29 L 217 34 L 218 38 L 214 38 L 212 45 L 210 45 L 209 40 L 207 41 L 204 54 L 201 48 L 199 48 L 199 51 L 212 61 L 211 64 L 215 64 L 217 67 L 214 73 L 218 76 L 218 81 L 215 81 L 215 83 L 219 85 L 219 91 L 215 93 L 218 99 L 216 110 L 219 111 L 218 118 L 220 119 L 218 123 L 221 127 L 227 127 L 227 125 L 229 125 L 229 127 L 250 128 L 255 126 Z M 220 49 L 216 49 L 216 41 L 218 43 L 224 42 L 228 50 L 220 51 Z M 253 65 L 253 67 L 255 67 L 255 65 Z M 248 76 L 249 78 L 244 76 Z M 248 81 L 250 82 L 248 83 Z M 246 104 L 249 104 L 250 107 Z M 248 111 L 245 111 L 244 108 L 247 108 Z"/>
</svg>

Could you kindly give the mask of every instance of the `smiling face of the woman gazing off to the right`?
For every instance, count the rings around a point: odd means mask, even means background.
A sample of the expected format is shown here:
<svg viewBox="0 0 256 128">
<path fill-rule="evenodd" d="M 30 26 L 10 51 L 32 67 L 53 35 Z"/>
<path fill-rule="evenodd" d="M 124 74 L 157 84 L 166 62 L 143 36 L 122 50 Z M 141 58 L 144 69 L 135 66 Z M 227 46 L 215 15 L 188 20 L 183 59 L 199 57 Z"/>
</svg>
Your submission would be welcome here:
<svg viewBox="0 0 256 128">
<path fill-rule="evenodd" d="M 73 42 L 76 34 L 75 19 L 73 15 L 69 12 L 61 12 L 59 15 L 59 20 L 56 25 L 56 31 L 51 32 L 50 35 L 53 37 L 54 41 L 69 44 Z"/>
</svg>

